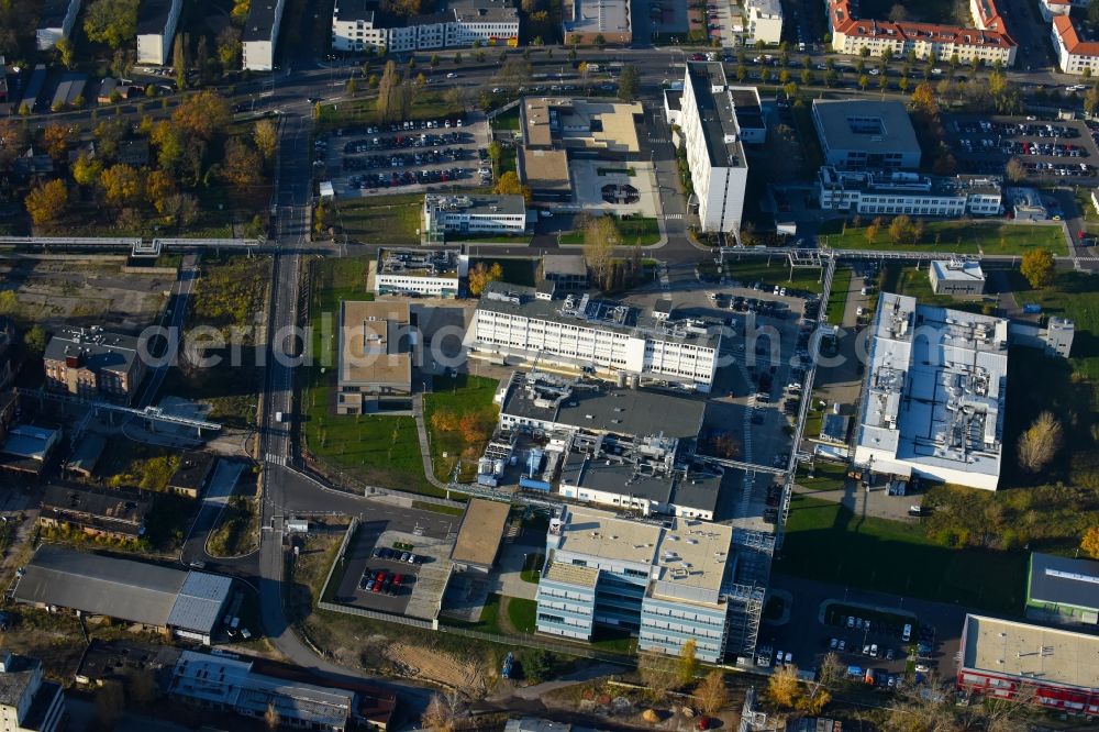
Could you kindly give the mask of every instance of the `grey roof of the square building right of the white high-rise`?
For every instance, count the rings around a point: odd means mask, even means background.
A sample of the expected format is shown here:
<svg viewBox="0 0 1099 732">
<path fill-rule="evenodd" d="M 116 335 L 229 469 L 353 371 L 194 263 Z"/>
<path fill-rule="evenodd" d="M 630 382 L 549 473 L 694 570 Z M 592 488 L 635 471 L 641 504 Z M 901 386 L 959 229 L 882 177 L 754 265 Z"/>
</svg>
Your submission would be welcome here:
<svg viewBox="0 0 1099 732">
<path fill-rule="evenodd" d="M 828 137 L 829 147 L 866 153 L 920 152 L 912 120 L 899 101 L 813 100 L 813 115 Z M 852 120 L 880 122 L 874 131 L 858 132 Z"/>
</svg>

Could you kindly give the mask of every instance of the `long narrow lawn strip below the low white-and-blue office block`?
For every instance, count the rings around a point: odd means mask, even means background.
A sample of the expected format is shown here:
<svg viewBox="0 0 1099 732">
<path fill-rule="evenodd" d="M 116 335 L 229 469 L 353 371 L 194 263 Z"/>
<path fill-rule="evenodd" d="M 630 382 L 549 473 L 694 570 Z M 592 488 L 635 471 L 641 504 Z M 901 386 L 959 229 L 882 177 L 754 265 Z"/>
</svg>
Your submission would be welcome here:
<svg viewBox="0 0 1099 732">
<path fill-rule="evenodd" d="M 843 226 L 841 221 L 830 223 L 831 233 L 826 233 L 823 240 L 834 249 L 888 249 L 893 246 L 889 241 L 888 222 L 881 226 L 874 242 L 866 239 L 866 226 L 870 222 L 865 219 L 859 226 L 851 223 Z M 1050 249 L 1056 255 L 1065 254 L 1067 247 L 1061 226 L 1000 221 L 928 221 L 923 237 L 918 243 L 897 248 L 956 254 L 1023 254 L 1035 247 Z"/>
</svg>

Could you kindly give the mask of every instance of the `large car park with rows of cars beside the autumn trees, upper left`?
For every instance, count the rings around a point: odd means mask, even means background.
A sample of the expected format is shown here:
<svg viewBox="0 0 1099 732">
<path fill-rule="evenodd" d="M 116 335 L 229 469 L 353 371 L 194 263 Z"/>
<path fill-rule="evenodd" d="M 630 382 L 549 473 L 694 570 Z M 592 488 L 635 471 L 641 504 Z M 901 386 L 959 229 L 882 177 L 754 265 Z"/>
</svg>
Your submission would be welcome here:
<svg viewBox="0 0 1099 732">
<path fill-rule="evenodd" d="M 380 190 L 418 192 L 432 186 L 492 181 L 484 118 L 451 117 L 336 130 L 314 143 L 336 196 Z"/>
</svg>

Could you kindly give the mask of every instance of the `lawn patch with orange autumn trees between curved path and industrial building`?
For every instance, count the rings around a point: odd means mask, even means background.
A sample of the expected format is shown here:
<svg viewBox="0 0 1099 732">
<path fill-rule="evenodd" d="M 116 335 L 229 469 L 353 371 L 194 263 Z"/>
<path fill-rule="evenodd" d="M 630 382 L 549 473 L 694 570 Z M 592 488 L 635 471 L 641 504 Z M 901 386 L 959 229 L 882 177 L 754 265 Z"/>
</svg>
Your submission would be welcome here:
<svg viewBox="0 0 1099 732">
<path fill-rule="evenodd" d="M 487 439 L 492 435 L 496 424 L 497 408 L 492 403 L 499 382 L 480 376 L 458 374 L 456 377 L 436 376 L 432 382 L 432 392 L 424 395 L 423 415 L 428 425 L 428 437 L 431 442 L 431 464 L 435 477 L 447 480 L 458 459 L 462 459 L 459 479 L 471 481 L 477 476 L 477 458 L 485 451 Z M 440 413 L 453 415 L 453 430 L 442 430 L 436 425 Z M 460 420 L 467 418 L 479 420 L 479 431 L 470 434 L 464 429 Z M 440 420 L 441 421 L 441 420 Z M 470 436 L 474 437 L 470 441 Z M 444 453 L 446 456 L 444 457 Z"/>
</svg>

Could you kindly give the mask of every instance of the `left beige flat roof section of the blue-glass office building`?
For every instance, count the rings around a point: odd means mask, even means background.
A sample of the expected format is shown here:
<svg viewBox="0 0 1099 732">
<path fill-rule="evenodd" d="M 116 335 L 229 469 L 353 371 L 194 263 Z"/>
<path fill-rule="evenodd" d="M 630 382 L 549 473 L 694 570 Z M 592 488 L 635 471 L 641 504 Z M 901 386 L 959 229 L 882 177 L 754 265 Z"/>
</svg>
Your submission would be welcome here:
<svg viewBox="0 0 1099 732">
<path fill-rule="evenodd" d="M 559 551 L 652 564 L 660 541 L 660 526 L 620 519 L 610 511 L 569 506 L 562 526 Z"/>
</svg>

